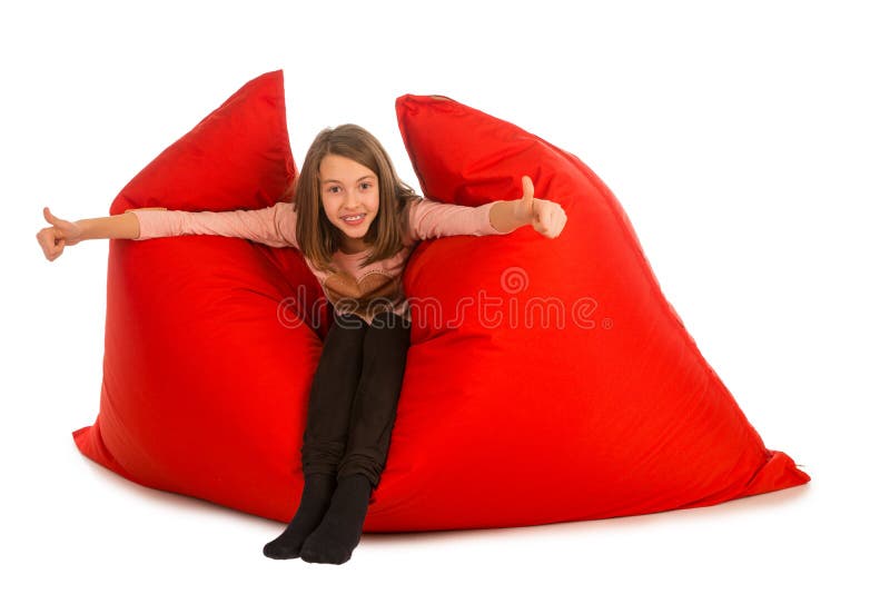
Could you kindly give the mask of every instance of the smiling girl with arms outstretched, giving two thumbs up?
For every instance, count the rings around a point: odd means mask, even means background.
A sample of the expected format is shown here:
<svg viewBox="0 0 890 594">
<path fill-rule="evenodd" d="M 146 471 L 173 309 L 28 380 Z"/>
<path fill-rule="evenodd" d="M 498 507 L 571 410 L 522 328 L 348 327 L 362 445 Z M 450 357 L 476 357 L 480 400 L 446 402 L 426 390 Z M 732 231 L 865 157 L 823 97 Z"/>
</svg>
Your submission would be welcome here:
<svg viewBox="0 0 890 594">
<path fill-rule="evenodd" d="M 263 553 L 342 564 L 358 545 L 389 449 L 411 337 L 402 289 L 406 260 L 418 241 L 435 237 L 502 235 L 524 225 L 558 236 L 565 211 L 534 198 L 531 178 L 523 177 L 522 186 L 520 199 L 475 208 L 422 198 L 398 178 L 374 136 L 344 125 L 315 138 L 293 204 L 228 212 L 135 209 L 77 222 L 44 207 L 51 227 L 37 239 L 50 261 L 83 239 L 185 234 L 241 237 L 303 253 L 334 306 L 334 320 L 309 393 L 299 507 Z"/>
</svg>

